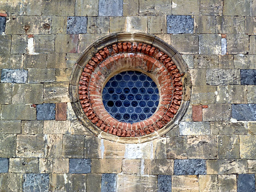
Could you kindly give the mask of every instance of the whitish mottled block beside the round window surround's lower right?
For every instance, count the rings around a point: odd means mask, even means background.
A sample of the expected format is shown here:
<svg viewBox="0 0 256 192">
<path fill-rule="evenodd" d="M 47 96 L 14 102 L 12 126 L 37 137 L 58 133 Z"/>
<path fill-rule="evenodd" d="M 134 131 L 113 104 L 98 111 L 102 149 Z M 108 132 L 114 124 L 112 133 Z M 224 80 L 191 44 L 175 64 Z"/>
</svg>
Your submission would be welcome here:
<svg viewBox="0 0 256 192">
<path fill-rule="evenodd" d="M 209 122 L 180 122 L 180 135 L 208 135 Z"/>
</svg>

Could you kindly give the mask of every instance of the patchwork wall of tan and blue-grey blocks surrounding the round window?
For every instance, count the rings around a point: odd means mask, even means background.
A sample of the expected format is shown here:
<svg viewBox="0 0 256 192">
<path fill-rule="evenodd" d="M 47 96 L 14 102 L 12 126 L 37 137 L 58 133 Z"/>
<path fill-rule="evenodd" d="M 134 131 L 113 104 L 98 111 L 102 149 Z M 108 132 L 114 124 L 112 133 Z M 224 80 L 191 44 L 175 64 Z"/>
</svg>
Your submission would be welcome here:
<svg viewBox="0 0 256 192">
<path fill-rule="evenodd" d="M 76 61 L 117 32 L 189 67 L 189 108 L 158 139 L 100 139 L 70 104 Z M 255 191 L 255 0 L 0 0 L 0 34 L 0 191 Z"/>
</svg>

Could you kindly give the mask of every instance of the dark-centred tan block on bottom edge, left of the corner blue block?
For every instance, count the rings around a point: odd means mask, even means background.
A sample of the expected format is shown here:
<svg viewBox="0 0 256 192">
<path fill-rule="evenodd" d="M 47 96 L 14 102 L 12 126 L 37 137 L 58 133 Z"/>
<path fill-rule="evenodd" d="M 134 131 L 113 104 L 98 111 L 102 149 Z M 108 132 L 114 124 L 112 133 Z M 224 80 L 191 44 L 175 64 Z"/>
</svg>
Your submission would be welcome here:
<svg viewBox="0 0 256 192">
<path fill-rule="evenodd" d="M 218 175 L 219 192 L 237 192 L 236 175 Z"/>
</svg>

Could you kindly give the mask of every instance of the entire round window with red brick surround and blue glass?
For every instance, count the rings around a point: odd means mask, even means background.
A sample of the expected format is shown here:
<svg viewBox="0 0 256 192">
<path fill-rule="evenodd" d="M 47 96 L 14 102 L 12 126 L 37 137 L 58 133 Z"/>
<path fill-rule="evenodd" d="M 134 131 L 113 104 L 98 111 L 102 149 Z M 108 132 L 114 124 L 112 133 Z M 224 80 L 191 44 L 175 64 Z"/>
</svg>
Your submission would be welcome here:
<svg viewBox="0 0 256 192">
<path fill-rule="evenodd" d="M 79 58 L 70 99 L 84 126 L 99 137 L 140 143 L 177 125 L 190 87 L 186 64 L 174 48 L 153 35 L 118 33 Z"/>
</svg>

